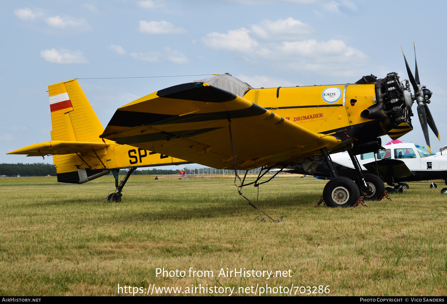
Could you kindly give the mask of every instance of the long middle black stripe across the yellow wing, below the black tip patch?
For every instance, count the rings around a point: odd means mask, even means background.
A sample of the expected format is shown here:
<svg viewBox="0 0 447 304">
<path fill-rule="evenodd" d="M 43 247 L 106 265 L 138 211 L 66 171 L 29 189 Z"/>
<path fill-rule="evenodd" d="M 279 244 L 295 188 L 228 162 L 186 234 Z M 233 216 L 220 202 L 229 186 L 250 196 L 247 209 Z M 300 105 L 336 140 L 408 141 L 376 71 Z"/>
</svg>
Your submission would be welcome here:
<svg viewBox="0 0 447 304">
<path fill-rule="evenodd" d="M 211 112 L 202 114 L 187 114 L 183 116 L 178 115 L 165 115 L 165 114 L 154 114 L 154 113 L 141 113 L 141 112 L 131 112 L 117 110 L 114 117 L 109 122 L 109 126 L 118 127 L 137 127 L 142 125 L 156 126 L 161 124 L 172 124 L 172 123 L 183 123 L 183 122 L 205 122 L 210 120 L 220 120 L 220 119 L 232 119 L 232 118 L 244 118 L 252 117 L 266 113 L 267 110 L 253 104 L 252 106 L 232 111 L 222 111 L 222 112 Z M 135 119 L 132 118 L 135 114 Z M 145 114 L 147 118 L 144 117 Z M 157 116 L 158 115 L 158 116 Z"/>
</svg>

